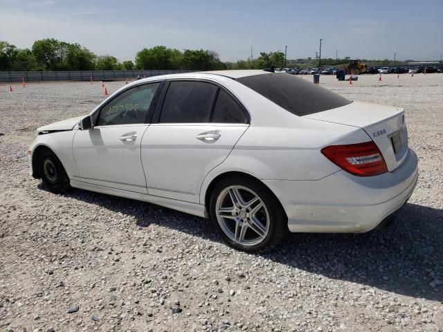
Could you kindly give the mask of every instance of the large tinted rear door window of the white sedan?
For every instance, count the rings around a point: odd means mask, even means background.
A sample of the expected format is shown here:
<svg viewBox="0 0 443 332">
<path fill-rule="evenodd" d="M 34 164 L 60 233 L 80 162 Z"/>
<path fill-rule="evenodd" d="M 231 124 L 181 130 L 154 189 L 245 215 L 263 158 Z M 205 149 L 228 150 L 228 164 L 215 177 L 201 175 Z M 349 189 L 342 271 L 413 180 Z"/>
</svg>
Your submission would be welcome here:
<svg viewBox="0 0 443 332">
<path fill-rule="evenodd" d="M 217 86 L 205 82 L 171 82 L 161 110 L 161 123 L 209 122 Z"/>
</svg>

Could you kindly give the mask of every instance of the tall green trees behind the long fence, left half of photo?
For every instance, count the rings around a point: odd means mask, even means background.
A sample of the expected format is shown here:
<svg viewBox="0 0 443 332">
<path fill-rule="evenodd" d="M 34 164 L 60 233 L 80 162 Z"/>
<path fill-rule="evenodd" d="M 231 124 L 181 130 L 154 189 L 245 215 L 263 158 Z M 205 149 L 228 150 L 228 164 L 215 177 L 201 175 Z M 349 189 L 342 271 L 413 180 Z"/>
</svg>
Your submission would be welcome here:
<svg viewBox="0 0 443 332">
<path fill-rule="evenodd" d="M 184 50 L 166 46 L 143 48 L 135 63 L 119 62 L 112 55 L 96 55 L 80 44 L 57 39 L 36 40 L 31 48 L 17 48 L 0 41 L 0 71 L 120 71 L 133 69 L 225 69 L 211 50 Z"/>
</svg>

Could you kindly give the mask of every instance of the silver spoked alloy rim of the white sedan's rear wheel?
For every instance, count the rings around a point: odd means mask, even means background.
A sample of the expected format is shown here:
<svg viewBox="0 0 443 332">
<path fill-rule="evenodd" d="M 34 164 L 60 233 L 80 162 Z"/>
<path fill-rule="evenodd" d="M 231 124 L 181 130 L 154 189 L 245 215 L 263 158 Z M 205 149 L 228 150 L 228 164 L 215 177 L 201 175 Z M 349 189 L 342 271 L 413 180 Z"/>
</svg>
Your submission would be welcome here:
<svg viewBox="0 0 443 332">
<path fill-rule="evenodd" d="M 241 246 L 257 246 L 269 234 L 266 205 L 253 190 L 242 185 L 230 185 L 220 192 L 215 214 L 224 234 Z"/>
</svg>

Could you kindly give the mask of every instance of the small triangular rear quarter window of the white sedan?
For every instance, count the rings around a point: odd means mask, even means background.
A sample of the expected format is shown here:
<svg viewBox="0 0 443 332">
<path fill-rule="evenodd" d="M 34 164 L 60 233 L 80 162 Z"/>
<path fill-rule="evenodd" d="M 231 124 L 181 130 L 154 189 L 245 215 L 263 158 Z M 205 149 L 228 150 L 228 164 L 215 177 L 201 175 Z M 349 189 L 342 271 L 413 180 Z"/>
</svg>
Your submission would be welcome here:
<svg viewBox="0 0 443 332">
<path fill-rule="evenodd" d="M 211 122 L 247 123 L 248 120 L 237 102 L 230 98 L 228 93 L 220 89 Z"/>
</svg>

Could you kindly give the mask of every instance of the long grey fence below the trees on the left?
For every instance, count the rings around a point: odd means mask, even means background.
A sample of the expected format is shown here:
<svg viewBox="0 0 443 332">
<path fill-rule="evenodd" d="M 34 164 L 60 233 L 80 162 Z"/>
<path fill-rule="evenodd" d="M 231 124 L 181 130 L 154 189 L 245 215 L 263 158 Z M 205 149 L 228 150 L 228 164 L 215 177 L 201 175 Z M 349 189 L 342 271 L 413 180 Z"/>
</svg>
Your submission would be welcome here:
<svg viewBox="0 0 443 332">
<path fill-rule="evenodd" d="M 26 82 L 42 81 L 101 81 L 125 80 L 141 75 L 151 77 L 175 73 L 187 73 L 181 70 L 152 70 L 152 71 L 0 71 L 0 82 Z"/>
</svg>

